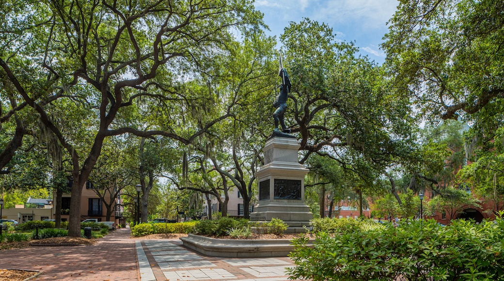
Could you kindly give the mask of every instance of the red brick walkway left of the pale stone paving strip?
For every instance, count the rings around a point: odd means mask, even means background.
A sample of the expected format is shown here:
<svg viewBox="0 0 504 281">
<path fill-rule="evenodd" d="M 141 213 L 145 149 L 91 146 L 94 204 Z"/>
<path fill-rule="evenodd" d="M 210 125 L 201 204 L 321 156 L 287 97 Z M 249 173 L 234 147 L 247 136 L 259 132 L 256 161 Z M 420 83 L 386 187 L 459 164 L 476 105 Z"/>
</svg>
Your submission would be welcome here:
<svg viewBox="0 0 504 281">
<path fill-rule="evenodd" d="M 90 246 L 0 251 L 0 268 L 44 271 L 34 280 L 139 280 L 135 240 L 119 229 Z"/>
</svg>

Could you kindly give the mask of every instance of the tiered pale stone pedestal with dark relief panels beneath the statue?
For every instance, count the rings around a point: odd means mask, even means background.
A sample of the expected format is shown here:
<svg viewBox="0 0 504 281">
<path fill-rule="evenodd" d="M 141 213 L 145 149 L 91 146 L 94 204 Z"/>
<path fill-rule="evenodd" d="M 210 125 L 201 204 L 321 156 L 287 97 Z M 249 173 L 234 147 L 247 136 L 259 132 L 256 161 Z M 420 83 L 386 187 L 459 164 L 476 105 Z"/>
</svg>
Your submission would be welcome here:
<svg viewBox="0 0 504 281">
<path fill-rule="evenodd" d="M 277 218 L 284 221 L 288 233 L 304 232 L 313 218 L 304 203 L 304 176 L 308 173 L 298 163 L 299 145 L 295 138 L 275 136 L 264 147 L 265 165 L 256 172 L 259 204 L 250 220 L 259 223 Z"/>
</svg>

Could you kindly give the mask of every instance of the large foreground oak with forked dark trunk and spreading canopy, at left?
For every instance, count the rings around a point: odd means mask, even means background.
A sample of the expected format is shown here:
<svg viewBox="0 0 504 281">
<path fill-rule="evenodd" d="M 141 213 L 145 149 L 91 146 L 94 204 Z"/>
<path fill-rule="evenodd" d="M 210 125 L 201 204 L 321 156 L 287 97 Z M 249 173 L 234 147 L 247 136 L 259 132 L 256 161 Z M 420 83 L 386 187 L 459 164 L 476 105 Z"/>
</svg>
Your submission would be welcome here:
<svg viewBox="0 0 504 281">
<path fill-rule="evenodd" d="M 144 137 L 160 134 L 190 144 L 213 124 L 232 115 L 230 105 L 223 115 L 200 120 L 200 126 L 180 128 L 167 123 L 145 131 L 129 119 L 130 114 L 138 112 L 148 117 L 160 111 L 137 106 L 136 102 L 157 100 L 166 110 L 174 108 L 170 101 L 182 96 L 175 84 L 182 85 L 198 76 L 199 68 L 205 67 L 213 55 L 226 52 L 227 43 L 234 40 L 232 27 L 247 32 L 247 27 L 260 24 L 260 15 L 247 1 L 69 0 L 26 1 L 19 5 L 35 15 L 26 17 L 30 28 L 20 31 L 25 48 L 10 57 L 2 56 L 0 62 L 17 93 L 36 110 L 41 122 L 71 156 L 70 236 L 80 236 L 82 187 L 106 137 L 127 132 Z M 39 43 L 33 49 L 26 47 L 32 38 Z M 67 99 L 88 108 L 92 125 L 87 128 L 86 139 L 91 141 L 84 148 L 79 147 L 79 140 L 61 130 L 61 124 L 51 120 L 52 105 L 44 106 L 35 99 L 21 69 L 12 63 L 17 56 L 31 57 L 35 68 L 42 69 L 40 76 L 57 81 L 57 85 L 42 85 L 46 99 L 68 93 Z"/>
</svg>

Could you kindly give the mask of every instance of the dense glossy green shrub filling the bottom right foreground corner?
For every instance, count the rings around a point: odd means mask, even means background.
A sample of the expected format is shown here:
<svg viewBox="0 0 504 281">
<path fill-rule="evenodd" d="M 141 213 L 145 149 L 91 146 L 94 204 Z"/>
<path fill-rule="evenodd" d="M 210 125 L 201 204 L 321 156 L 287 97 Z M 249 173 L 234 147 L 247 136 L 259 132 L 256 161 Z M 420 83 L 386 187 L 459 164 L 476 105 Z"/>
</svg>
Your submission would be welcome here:
<svg viewBox="0 0 504 281">
<path fill-rule="evenodd" d="M 361 222 L 365 223 L 365 222 Z M 292 278 L 321 280 L 504 280 L 504 221 L 479 225 L 408 221 L 294 240 Z M 485 279 L 486 278 L 486 279 Z"/>
</svg>

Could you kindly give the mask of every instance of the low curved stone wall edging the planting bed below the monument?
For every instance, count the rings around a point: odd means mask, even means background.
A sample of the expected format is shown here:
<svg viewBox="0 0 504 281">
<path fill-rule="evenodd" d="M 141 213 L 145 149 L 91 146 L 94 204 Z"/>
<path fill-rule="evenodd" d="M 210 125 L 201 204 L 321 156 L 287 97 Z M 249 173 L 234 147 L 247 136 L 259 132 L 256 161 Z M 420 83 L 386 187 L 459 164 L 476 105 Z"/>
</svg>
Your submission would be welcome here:
<svg viewBox="0 0 504 281">
<path fill-rule="evenodd" d="M 198 253 L 214 257 L 286 257 L 293 249 L 290 240 L 216 239 L 189 234 L 182 244 Z M 313 241 L 308 245 L 313 247 Z"/>
</svg>

